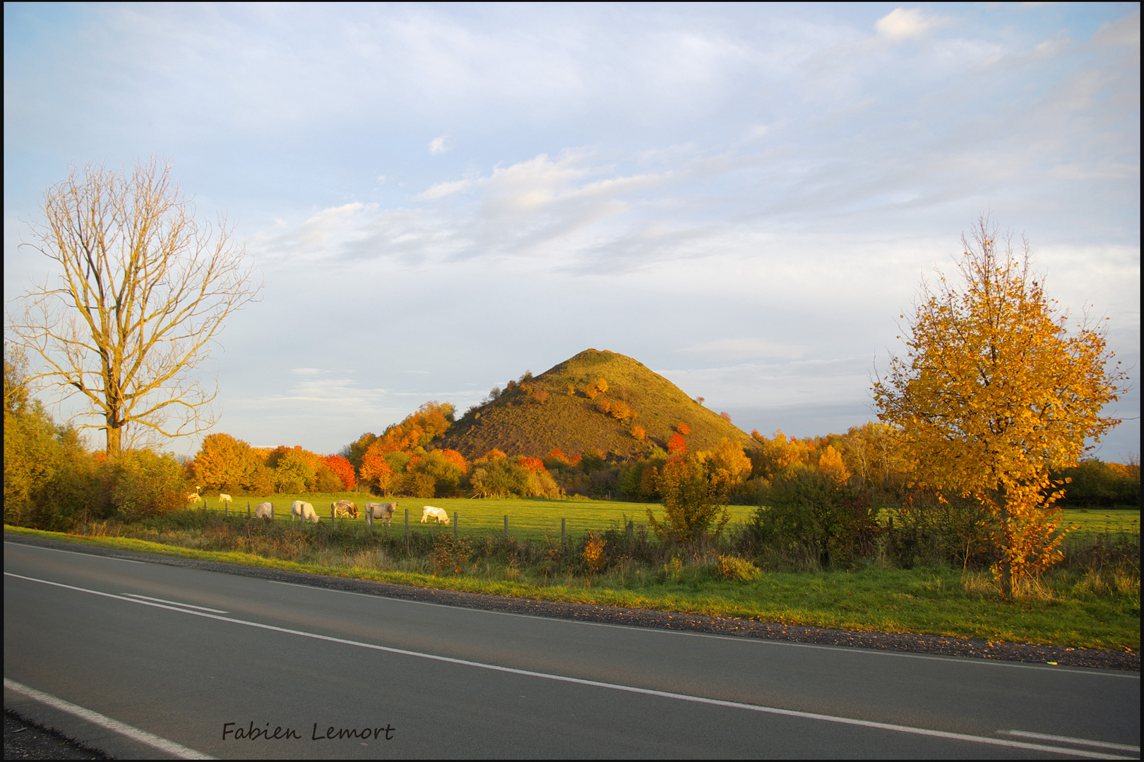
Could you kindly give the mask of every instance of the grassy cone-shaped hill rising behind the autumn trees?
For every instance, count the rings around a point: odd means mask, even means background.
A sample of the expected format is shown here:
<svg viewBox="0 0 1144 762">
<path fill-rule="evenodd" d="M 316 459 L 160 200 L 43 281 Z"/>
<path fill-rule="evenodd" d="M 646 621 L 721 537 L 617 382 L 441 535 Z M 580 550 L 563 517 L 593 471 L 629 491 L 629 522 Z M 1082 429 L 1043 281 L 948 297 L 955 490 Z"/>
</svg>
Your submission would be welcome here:
<svg viewBox="0 0 1144 762">
<path fill-rule="evenodd" d="M 607 391 L 593 400 L 586 387 L 597 378 L 607 382 Z M 709 450 L 723 438 L 744 444 L 752 441 L 744 431 L 690 399 L 672 382 L 614 352 L 586 350 L 529 384 L 531 393 L 515 386 L 466 414 L 437 442 L 438 447 L 459 450 L 467 458 L 482 456 L 492 448 L 509 456 L 538 458 L 554 448 L 570 456 L 598 449 L 627 458 L 653 447 L 666 449 L 673 427 L 680 423 L 691 428 L 686 436 L 689 450 Z M 569 394 L 569 384 L 575 387 L 574 395 Z M 537 392 L 547 392 L 548 398 L 541 402 Z M 637 417 L 634 422 L 621 422 L 602 412 L 598 403 L 603 399 L 627 403 Z M 643 441 L 631 434 L 633 425 L 646 431 Z"/>
</svg>

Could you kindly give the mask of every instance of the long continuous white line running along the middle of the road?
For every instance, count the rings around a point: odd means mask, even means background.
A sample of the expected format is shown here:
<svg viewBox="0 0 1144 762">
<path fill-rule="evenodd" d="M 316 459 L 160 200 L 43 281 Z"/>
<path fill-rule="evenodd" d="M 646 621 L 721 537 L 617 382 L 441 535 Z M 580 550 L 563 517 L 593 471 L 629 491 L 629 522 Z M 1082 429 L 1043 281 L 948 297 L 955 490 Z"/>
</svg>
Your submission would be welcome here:
<svg viewBox="0 0 1144 762">
<path fill-rule="evenodd" d="M 237 625 L 246 625 L 247 627 L 257 627 L 259 629 L 269 629 L 272 632 L 286 633 L 288 635 L 300 635 L 302 637 L 310 637 L 313 640 L 321 640 L 329 643 L 341 643 L 343 645 L 355 645 L 358 648 L 366 648 L 374 651 L 384 651 L 387 653 L 399 653 L 402 656 L 412 656 L 421 659 L 430 659 L 434 661 L 444 661 L 446 664 L 456 664 L 467 667 L 478 667 L 480 669 L 491 669 L 494 672 L 503 672 L 515 675 L 524 675 L 526 677 L 541 677 L 543 680 L 554 680 L 557 682 L 573 683 L 578 685 L 590 685 L 593 688 L 605 688 L 609 690 L 619 690 L 628 693 L 641 693 L 644 696 L 657 696 L 661 698 L 672 698 L 681 701 L 692 701 L 696 704 L 707 704 L 712 706 L 723 706 L 734 709 L 747 709 L 750 712 L 762 712 L 765 714 L 777 714 L 788 717 L 800 717 L 804 720 L 818 720 L 821 722 L 835 722 L 847 725 L 858 725 L 861 728 L 875 728 L 879 730 L 892 730 L 895 732 L 912 733 L 915 736 L 929 736 L 932 738 L 947 738 L 951 740 L 969 741 L 974 744 L 988 744 L 991 746 L 1007 746 L 1010 748 L 1026 748 L 1034 752 L 1051 752 L 1054 754 L 1065 754 L 1070 756 L 1083 756 L 1095 760 L 1127 760 L 1131 757 L 1115 756 L 1111 754 L 1102 754 L 1099 752 L 1087 752 L 1085 749 L 1073 749 L 1073 748 L 1060 748 L 1057 746 L 1046 746 L 1043 744 L 1026 744 L 1024 741 L 1016 740 L 1004 740 L 1000 738 L 988 738 L 985 736 L 969 736 L 967 733 L 955 733 L 947 732 L 944 730 L 929 730 L 925 728 L 912 728 L 909 725 L 896 725 L 887 722 L 874 722 L 871 720 L 855 720 L 851 717 L 839 717 L 829 714 L 816 714 L 813 712 L 799 712 L 795 709 L 780 709 L 778 707 L 771 706 L 758 706 L 756 704 L 741 704 L 739 701 L 725 701 L 715 698 L 705 698 L 702 696 L 688 696 L 686 693 L 673 693 L 669 691 L 654 690 L 651 688 L 635 688 L 633 685 L 620 685 L 617 683 L 605 683 L 596 680 L 585 680 L 583 677 L 570 677 L 566 675 L 555 675 L 545 672 L 533 672 L 531 669 L 517 669 L 515 667 L 502 667 L 495 664 L 483 664 L 480 661 L 469 661 L 468 659 L 456 659 L 448 656 L 437 656 L 435 653 L 422 653 L 419 651 L 408 651 L 402 648 L 392 648 L 389 645 L 375 645 L 374 643 L 363 643 L 360 641 L 347 640 L 344 637 L 333 637 L 331 635 L 319 635 L 318 633 L 305 632 L 302 629 L 291 629 L 288 627 L 276 627 L 275 625 L 264 625 L 259 621 L 247 621 L 245 619 L 235 619 L 232 617 L 222 617 L 216 613 L 206 613 L 202 611 L 191 611 L 188 609 L 175 608 L 172 605 L 166 605 L 164 603 L 151 603 L 150 601 L 141 601 L 134 597 L 125 597 L 121 595 L 116 595 L 113 593 L 104 593 L 97 589 L 88 589 L 86 587 L 76 587 L 74 585 L 64 585 L 63 583 L 55 583 L 47 579 L 37 579 L 35 577 L 25 577 L 23 575 L 16 575 L 10 571 L 3 572 L 6 577 L 16 577 L 18 579 L 26 579 L 29 581 L 41 583 L 45 585 L 51 585 L 54 587 L 64 587 L 66 589 L 73 589 L 81 593 L 90 593 L 93 595 L 101 595 L 104 597 L 113 597 L 120 601 L 127 601 L 129 603 L 137 603 L 140 605 L 150 605 L 157 609 L 167 609 L 169 611 L 178 611 L 181 613 L 189 613 L 196 617 L 204 617 L 206 619 L 217 619 L 219 621 L 230 621 Z"/>
</svg>

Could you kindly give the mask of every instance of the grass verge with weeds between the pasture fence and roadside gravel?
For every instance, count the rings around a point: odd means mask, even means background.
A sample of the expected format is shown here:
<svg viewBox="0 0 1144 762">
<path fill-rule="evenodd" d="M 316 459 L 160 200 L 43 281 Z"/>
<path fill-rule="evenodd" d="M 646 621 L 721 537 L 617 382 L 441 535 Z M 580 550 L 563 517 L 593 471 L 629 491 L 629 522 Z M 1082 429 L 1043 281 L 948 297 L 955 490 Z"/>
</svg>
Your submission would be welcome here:
<svg viewBox="0 0 1144 762">
<path fill-rule="evenodd" d="M 214 521 L 225 529 L 225 522 Z M 214 526 L 212 524 L 212 526 Z M 355 545 L 359 532 L 347 530 L 341 545 L 276 545 L 294 558 L 265 552 L 209 550 L 217 543 L 186 532 L 162 542 L 135 537 L 92 537 L 5 527 L 6 534 L 46 537 L 140 553 L 223 561 L 251 567 L 373 579 L 378 581 L 629 608 L 737 617 L 761 621 L 891 633 L 1101 648 L 1139 649 L 1139 573 L 1060 570 L 1017 600 L 996 594 L 985 572 L 963 576 L 948 568 L 868 568 L 817 572 L 761 572 L 749 581 L 720 578 L 710 559 L 678 560 L 662 568 L 628 560 L 593 576 L 562 570 L 543 561 L 523 563 L 509 543 L 505 559 L 435 563 L 389 544 Z M 283 542 L 288 531 L 280 532 Z M 301 534 L 299 534 L 301 536 Z M 158 537 L 158 536 L 157 536 Z M 371 538 L 372 539 L 372 538 Z M 277 540 L 276 540 L 277 542 Z M 494 536 L 486 538 L 492 547 Z M 200 546 L 193 547 L 198 543 Z M 406 545 L 406 550 L 408 546 Z M 438 573 L 435 573 L 435 570 Z"/>
</svg>

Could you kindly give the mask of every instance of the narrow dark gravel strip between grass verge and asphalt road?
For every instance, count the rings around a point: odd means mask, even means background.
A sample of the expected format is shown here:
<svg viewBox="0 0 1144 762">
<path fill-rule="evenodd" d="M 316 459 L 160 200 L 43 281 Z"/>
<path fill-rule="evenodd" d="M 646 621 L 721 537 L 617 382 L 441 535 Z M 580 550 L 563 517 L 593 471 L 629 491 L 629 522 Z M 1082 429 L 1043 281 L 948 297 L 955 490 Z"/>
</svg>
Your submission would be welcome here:
<svg viewBox="0 0 1144 762">
<path fill-rule="evenodd" d="M 732 619 L 729 617 L 708 617 L 698 613 L 680 613 L 657 611 L 652 609 L 628 609 L 621 607 L 596 605 L 593 603 L 563 603 L 554 601 L 535 601 L 524 597 L 507 597 L 485 593 L 463 593 L 458 591 L 416 587 L 381 583 L 371 579 L 352 577 L 329 577 L 302 571 L 245 567 L 222 561 L 204 561 L 200 559 L 180 559 L 169 555 L 135 553 L 112 548 L 77 545 L 39 537 L 22 537 L 6 535 L 7 542 L 69 550 L 79 548 L 90 555 L 145 561 L 169 567 L 219 571 L 240 577 L 255 577 L 275 581 L 293 583 L 308 587 L 323 587 L 350 593 L 364 593 L 381 597 L 392 597 L 405 601 L 423 601 L 443 605 L 458 605 L 484 611 L 501 611 L 527 616 L 549 617 L 555 619 L 572 619 L 598 624 L 627 625 L 631 627 L 649 627 L 677 632 L 706 633 L 738 637 L 755 637 L 760 640 L 785 641 L 793 643 L 810 643 L 816 645 L 835 645 L 841 648 L 861 648 L 877 651 L 901 651 L 911 653 L 928 653 L 938 656 L 962 656 L 1001 661 L 1022 661 L 1026 664 L 1056 664 L 1058 666 L 1093 667 L 1099 669 L 1120 669 L 1139 672 L 1139 653 L 1128 651 L 1105 651 L 1089 648 L 1065 648 L 1060 645 L 1035 645 L 1032 643 L 1007 643 L 985 641 L 974 637 L 952 637 L 942 635 L 917 635 L 912 633 L 881 633 L 869 631 L 832 629 L 827 627 L 810 627 L 805 625 L 785 625 L 749 619 Z"/>
</svg>

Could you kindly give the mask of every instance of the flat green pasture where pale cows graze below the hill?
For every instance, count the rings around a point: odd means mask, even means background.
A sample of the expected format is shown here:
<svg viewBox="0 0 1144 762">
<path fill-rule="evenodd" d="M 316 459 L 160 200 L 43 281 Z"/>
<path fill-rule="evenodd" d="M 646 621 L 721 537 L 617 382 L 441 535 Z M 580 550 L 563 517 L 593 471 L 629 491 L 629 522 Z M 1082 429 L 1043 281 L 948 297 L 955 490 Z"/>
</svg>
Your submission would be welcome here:
<svg viewBox="0 0 1144 762">
<path fill-rule="evenodd" d="M 561 519 L 564 519 L 565 527 L 570 536 L 581 535 L 588 530 L 621 528 L 628 521 L 634 521 L 636 526 L 648 523 L 648 508 L 656 512 L 657 519 L 662 515 L 662 507 L 656 503 L 620 503 L 618 500 L 561 500 L 546 498 L 521 498 L 521 499 L 498 499 L 498 498 L 420 498 L 398 497 L 381 498 L 371 497 L 356 492 L 339 494 L 307 494 L 307 495 L 273 495 L 270 497 L 236 497 L 230 505 L 230 512 L 246 515 L 246 505 L 249 502 L 253 513 L 254 506 L 263 502 L 269 502 L 275 506 L 276 521 L 289 521 L 289 506 L 294 500 L 305 500 L 313 505 L 318 518 L 323 522 L 329 521 L 329 506 L 336 500 L 352 500 L 357 503 L 360 511 L 366 503 L 397 503 L 397 513 L 394 514 L 394 527 L 404 531 L 405 511 L 410 512 L 410 531 L 436 531 L 432 520 L 421 523 L 421 508 L 431 505 L 448 512 L 450 521 L 453 515 L 458 515 L 458 532 L 463 535 L 478 534 L 486 535 L 505 531 L 505 516 L 508 516 L 508 531 L 513 537 L 519 539 L 543 539 L 548 535 L 553 539 L 561 536 Z M 201 504 L 200 504 L 201 507 Z M 206 510 L 222 511 L 217 496 L 207 498 Z M 731 524 L 749 520 L 754 507 L 749 505 L 732 505 Z M 358 519 L 339 519 L 339 523 L 345 521 L 351 524 L 365 526 L 365 515 Z"/>
</svg>

